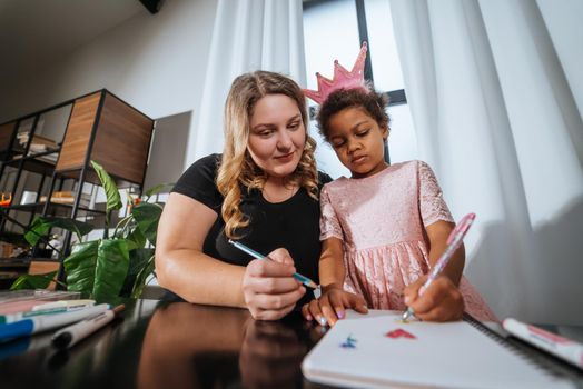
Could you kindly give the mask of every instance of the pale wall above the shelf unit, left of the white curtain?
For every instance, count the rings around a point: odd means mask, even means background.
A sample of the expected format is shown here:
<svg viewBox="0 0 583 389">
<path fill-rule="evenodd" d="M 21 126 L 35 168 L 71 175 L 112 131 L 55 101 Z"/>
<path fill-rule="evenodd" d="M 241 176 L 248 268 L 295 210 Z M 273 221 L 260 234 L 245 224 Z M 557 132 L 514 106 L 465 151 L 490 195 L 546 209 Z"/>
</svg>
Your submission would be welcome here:
<svg viewBox="0 0 583 389">
<path fill-rule="evenodd" d="M 0 122 L 107 88 L 152 119 L 198 107 L 215 0 L 167 0 L 56 63 L 0 80 Z M 195 113 L 196 114 L 196 113 Z"/>
</svg>

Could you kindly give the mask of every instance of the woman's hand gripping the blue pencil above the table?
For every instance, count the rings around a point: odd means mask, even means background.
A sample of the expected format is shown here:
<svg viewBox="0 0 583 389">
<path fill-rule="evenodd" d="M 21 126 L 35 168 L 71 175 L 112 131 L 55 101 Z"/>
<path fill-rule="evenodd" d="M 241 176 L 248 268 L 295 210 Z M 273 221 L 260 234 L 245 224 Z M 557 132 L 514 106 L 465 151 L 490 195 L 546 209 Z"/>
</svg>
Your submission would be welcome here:
<svg viewBox="0 0 583 389">
<path fill-rule="evenodd" d="M 255 259 L 243 277 L 243 296 L 257 320 L 277 320 L 289 313 L 306 288 L 292 275 L 294 260 L 286 249 L 269 252 L 269 259 Z"/>
</svg>

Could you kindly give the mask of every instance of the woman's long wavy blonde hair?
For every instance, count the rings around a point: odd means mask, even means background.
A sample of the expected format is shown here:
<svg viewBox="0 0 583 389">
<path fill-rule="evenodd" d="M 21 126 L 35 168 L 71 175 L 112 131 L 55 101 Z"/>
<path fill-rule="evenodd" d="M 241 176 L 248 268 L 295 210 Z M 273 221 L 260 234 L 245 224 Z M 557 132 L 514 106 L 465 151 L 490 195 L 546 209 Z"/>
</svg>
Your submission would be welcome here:
<svg viewBox="0 0 583 389">
<path fill-rule="evenodd" d="M 225 104 L 225 147 L 216 180 L 219 192 L 225 197 L 220 211 L 228 238 L 239 238 L 236 229 L 249 225 L 249 218 L 240 210 L 241 191 L 248 193 L 251 189 L 261 189 L 267 180 L 267 174 L 247 151 L 250 118 L 257 101 L 267 94 L 285 94 L 299 108 L 306 143 L 299 163 L 286 184 L 305 188 L 312 198 L 318 199 L 318 173 L 314 158 L 316 141 L 307 133 L 308 117 L 302 89 L 288 77 L 270 71 L 241 74 L 233 81 Z"/>
</svg>

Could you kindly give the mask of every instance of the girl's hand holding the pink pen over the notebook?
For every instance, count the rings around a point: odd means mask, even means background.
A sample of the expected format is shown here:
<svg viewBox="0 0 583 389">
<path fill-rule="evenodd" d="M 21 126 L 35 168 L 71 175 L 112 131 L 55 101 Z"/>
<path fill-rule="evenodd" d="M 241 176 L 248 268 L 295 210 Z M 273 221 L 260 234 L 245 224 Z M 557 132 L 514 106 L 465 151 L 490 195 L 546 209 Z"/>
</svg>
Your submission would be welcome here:
<svg viewBox="0 0 583 389">
<path fill-rule="evenodd" d="M 460 289 L 445 276 L 437 277 L 418 296 L 427 275 L 407 286 L 404 290 L 405 303 L 415 310 L 415 316 L 426 321 L 453 321 L 462 319 L 464 298 Z"/>
</svg>

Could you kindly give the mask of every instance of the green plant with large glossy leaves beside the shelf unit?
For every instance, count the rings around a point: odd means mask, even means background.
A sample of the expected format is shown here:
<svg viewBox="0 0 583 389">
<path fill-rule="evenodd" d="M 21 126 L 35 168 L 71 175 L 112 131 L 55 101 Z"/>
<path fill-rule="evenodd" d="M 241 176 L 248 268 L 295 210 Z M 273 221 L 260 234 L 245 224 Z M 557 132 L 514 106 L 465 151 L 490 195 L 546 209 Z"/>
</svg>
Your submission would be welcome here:
<svg viewBox="0 0 583 389">
<path fill-rule="evenodd" d="M 139 297 L 146 280 L 154 273 L 156 230 L 164 203 L 149 202 L 151 196 L 169 184 L 159 184 L 148 190 L 144 201 L 130 197 L 131 211 L 121 219 L 111 237 L 110 222 L 113 211 L 122 207 L 119 190 L 97 162 L 91 161 L 107 197 L 106 223 L 102 238 L 82 241 L 93 226 L 69 218 L 38 217 L 24 235 L 34 246 L 39 240 L 47 241 L 47 232 L 52 227 L 62 228 L 77 236 L 71 253 L 62 261 L 67 275 L 66 282 L 59 282 L 67 290 L 81 291 L 96 299 L 111 299 L 118 296 Z M 149 243 L 149 245 L 148 245 Z M 59 259 L 62 259 L 59 251 Z M 24 275 L 19 277 L 11 289 L 47 288 L 56 272 L 46 275 Z"/>
</svg>

